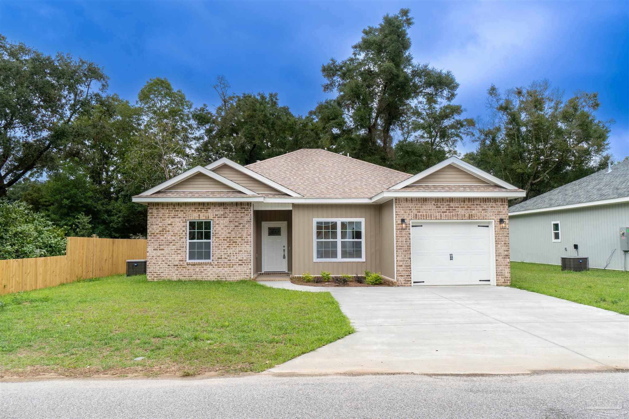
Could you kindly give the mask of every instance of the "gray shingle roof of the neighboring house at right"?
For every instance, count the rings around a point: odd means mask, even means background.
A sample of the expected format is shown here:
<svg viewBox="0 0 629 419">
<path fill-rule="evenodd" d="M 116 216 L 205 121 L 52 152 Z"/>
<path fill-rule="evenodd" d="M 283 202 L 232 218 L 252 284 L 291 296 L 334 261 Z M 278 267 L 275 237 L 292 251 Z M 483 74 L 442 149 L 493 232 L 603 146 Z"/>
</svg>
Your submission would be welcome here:
<svg viewBox="0 0 629 419">
<path fill-rule="evenodd" d="M 509 207 L 509 212 L 629 197 L 629 160 Z"/>
</svg>

